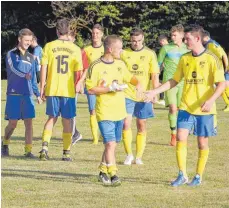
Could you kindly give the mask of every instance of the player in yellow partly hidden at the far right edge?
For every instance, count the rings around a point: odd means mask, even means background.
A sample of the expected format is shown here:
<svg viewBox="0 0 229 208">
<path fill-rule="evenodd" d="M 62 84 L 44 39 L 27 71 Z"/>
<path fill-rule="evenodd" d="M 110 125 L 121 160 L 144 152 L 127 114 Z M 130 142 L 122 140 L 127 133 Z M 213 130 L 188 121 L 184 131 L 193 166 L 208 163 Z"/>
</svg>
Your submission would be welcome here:
<svg viewBox="0 0 229 208">
<path fill-rule="evenodd" d="M 226 79 L 228 77 L 228 58 L 226 52 L 219 45 L 219 43 L 210 38 L 210 33 L 206 30 L 204 31 L 203 43 L 207 49 L 213 52 L 220 59 L 220 62 L 223 64 L 224 67 Z M 226 87 L 225 91 L 222 94 L 222 97 L 224 99 L 224 102 L 226 103 L 224 112 L 229 112 L 229 87 Z"/>
</svg>

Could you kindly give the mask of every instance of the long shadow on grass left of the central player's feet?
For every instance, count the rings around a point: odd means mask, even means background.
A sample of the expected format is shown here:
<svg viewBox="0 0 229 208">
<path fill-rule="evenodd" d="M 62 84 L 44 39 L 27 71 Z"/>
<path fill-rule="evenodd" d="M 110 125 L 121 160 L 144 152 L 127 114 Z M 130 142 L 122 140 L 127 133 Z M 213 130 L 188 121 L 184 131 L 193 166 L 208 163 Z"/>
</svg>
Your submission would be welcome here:
<svg viewBox="0 0 229 208">
<path fill-rule="evenodd" d="M 10 173 L 8 173 L 10 172 Z M 64 173 L 52 171 L 39 171 L 39 170 L 21 170 L 21 169 L 2 169 L 2 177 L 21 177 L 31 178 L 37 180 L 52 180 L 52 181 L 65 181 L 77 182 L 82 184 L 94 184 L 96 175 L 92 174 L 77 174 L 77 173 Z M 86 179 L 86 180 L 85 180 Z"/>
</svg>

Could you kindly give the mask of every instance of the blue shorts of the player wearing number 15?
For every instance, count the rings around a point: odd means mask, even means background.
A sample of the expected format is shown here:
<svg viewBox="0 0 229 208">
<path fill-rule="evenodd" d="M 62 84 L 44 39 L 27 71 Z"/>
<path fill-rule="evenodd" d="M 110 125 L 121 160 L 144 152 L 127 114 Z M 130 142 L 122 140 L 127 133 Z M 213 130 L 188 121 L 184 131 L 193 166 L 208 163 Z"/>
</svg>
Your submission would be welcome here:
<svg viewBox="0 0 229 208">
<path fill-rule="evenodd" d="M 47 96 L 46 115 L 70 119 L 76 116 L 75 98 Z"/>
</svg>

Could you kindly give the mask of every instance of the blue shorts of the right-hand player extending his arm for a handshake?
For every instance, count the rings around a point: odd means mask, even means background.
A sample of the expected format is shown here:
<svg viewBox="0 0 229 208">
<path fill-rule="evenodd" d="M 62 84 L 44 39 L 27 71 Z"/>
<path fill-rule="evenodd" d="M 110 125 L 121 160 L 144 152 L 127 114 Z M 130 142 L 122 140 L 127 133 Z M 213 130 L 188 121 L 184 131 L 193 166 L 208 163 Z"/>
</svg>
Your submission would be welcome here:
<svg viewBox="0 0 229 208">
<path fill-rule="evenodd" d="M 193 130 L 196 136 L 216 136 L 217 130 L 214 127 L 214 115 L 192 115 L 184 110 L 179 110 L 177 117 L 177 128 Z"/>
</svg>

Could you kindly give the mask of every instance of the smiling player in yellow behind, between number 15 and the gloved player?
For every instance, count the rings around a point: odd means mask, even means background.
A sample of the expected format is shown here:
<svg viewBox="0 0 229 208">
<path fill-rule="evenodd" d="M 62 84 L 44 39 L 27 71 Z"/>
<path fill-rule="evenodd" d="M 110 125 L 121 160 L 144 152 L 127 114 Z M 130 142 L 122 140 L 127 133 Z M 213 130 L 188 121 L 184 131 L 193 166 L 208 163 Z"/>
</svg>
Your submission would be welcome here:
<svg viewBox="0 0 229 208">
<path fill-rule="evenodd" d="M 97 60 L 104 54 L 104 47 L 102 43 L 103 37 L 103 27 L 99 24 L 95 24 L 92 28 L 92 45 L 84 48 L 86 53 L 88 63 L 91 64 L 93 61 Z M 80 89 L 83 81 L 86 78 L 87 70 L 84 70 L 84 73 L 77 85 L 77 89 Z M 88 107 L 90 112 L 90 126 L 91 132 L 93 136 L 93 144 L 98 144 L 99 136 L 98 136 L 98 122 L 96 120 L 95 115 L 95 95 L 88 94 L 85 89 L 85 93 L 87 95 Z"/>
</svg>

